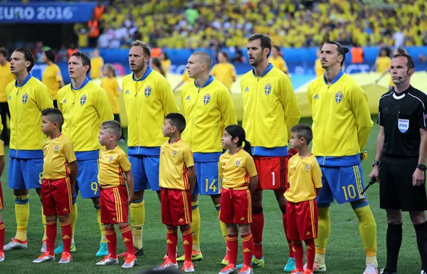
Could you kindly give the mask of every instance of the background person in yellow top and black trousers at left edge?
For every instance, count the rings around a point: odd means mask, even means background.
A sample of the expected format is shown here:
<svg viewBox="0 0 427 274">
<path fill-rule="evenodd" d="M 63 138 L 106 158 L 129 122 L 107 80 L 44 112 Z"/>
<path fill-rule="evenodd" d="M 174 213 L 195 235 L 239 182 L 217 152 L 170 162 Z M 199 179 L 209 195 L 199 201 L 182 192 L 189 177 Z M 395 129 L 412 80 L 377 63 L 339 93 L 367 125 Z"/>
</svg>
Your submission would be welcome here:
<svg viewBox="0 0 427 274">
<path fill-rule="evenodd" d="M 4 144 L 9 144 L 9 130 L 6 124 L 6 115 L 11 117 L 9 105 L 7 104 L 6 85 L 15 80 L 15 75 L 11 73 L 11 64 L 7 61 L 9 52 L 6 48 L 0 48 L 0 115 L 3 125 L 1 139 Z"/>
</svg>

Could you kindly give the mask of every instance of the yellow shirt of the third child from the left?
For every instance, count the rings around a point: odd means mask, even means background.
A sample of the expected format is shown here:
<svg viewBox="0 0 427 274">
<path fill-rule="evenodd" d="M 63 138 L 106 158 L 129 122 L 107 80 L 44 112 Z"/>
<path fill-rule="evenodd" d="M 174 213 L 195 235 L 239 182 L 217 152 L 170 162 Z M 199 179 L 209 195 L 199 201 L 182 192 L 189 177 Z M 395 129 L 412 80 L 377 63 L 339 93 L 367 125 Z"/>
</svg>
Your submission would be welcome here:
<svg viewBox="0 0 427 274">
<path fill-rule="evenodd" d="M 194 167 L 193 153 L 182 139 L 165 142 L 160 148 L 159 186 L 165 189 L 190 189 L 187 169 Z"/>
</svg>

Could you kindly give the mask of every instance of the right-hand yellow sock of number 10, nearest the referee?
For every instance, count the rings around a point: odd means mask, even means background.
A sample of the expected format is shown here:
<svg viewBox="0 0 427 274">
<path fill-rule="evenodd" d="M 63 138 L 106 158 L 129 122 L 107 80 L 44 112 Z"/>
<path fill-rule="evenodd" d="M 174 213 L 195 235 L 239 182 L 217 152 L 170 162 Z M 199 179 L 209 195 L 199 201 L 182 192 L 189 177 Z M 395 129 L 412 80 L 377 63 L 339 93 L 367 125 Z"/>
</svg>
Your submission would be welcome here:
<svg viewBox="0 0 427 274">
<path fill-rule="evenodd" d="M 367 253 L 367 263 L 378 265 L 376 261 L 376 223 L 369 205 L 354 209 L 359 218 L 359 231 Z"/>
</svg>

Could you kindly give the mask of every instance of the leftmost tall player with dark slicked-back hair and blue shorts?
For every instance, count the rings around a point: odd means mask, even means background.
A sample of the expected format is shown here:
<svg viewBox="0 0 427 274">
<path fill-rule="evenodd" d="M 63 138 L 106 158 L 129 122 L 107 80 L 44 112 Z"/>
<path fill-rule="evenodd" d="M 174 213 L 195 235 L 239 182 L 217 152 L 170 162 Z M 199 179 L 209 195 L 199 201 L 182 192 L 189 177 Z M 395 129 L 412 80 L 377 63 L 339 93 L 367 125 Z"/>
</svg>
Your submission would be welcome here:
<svg viewBox="0 0 427 274">
<path fill-rule="evenodd" d="M 6 86 L 11 112 L 8 185 L 14 189 L 16 236 L 4 246 L 4 251 L 27 248 L 28 189 L 36 189 L 41 195 L 42 146 L 46 138 L 40 130 L 41 112 L 53 107 L 53 102 L 46 85 L 30 73 L 34 63 L 28 48 L 16 48 L 11 55 L 11 73 L 16 75 L 16 80 Z"/>
</svg>

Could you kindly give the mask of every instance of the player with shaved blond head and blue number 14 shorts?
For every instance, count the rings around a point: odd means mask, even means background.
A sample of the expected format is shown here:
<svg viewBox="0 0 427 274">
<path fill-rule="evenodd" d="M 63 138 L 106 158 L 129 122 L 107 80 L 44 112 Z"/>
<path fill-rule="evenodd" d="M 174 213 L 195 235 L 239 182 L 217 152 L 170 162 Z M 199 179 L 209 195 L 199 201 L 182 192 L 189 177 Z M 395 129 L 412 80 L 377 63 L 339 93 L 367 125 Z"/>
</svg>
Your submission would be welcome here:
<svg viewBox="0 0 427 274">
<path fill-rule="evenodd" d="M 196 51 L 188 60 L 186 69 L 194 82 L 189 82 L 181 89 L 182 113 L 187 121 L 187 129 L 182 139 L 189 143 L 194 153 L 196 166 L 196 186 L 191 195 L 194 231 L 193 260 L 202 257 L 200 251 L 199 231 L 199 194 L 211 196 L 218 214 L 221 210 L 221 184 L 218 181 L 218 159 L 222 154 L 221 135 L 223 128 L 237 123 L 231 93 L 225 85 L 209 75 L 212 58 L 209 53 Z M 227 228 L 220 221 L 224 241 Z M 178 260 L 183 260 L 181 256 Z M 228 265 L 225 257 L 222 262 Z"/>
</svg>

